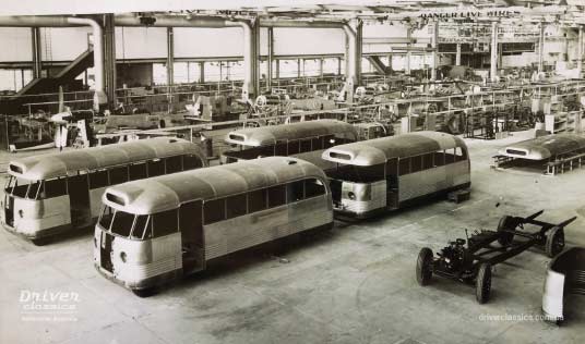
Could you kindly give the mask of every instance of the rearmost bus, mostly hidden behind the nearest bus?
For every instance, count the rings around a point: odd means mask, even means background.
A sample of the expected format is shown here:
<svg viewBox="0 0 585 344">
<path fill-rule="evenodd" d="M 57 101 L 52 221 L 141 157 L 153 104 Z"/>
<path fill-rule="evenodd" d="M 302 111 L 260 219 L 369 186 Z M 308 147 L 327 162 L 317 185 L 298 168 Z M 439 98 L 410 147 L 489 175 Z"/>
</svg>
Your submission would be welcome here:
<svg viewBox="0 0 585 344">
<path fill-rule="evenodd" d="M 225 142 L 236 150 L 222 155 L 222 163 L 259 157 L 296 157 L 327 170 L 333 164 L 321 159 L 324 149 L 358 139 L 354 125 L 336 120 L 315 120 L 243 128 L 229 132 Z"/>
</svg>

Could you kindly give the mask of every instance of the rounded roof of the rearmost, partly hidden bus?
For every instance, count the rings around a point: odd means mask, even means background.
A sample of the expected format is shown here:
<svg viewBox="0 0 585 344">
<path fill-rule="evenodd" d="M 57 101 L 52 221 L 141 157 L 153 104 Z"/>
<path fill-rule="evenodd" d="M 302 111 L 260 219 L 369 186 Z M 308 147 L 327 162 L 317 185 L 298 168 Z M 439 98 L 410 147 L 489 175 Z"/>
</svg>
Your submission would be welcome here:
<svg viewBox="0 0 585 344">
<path fill-rule="evenodd" d="M 291 124 L 278 124 L 261 127 L 243 128 L 229 132 L 225 142 L 243 146 L 268 146 L 277 142 L 317 137 L 332 134 L 345 134 L 357 139 L 354 125 L 336 120 L 315 120 Z"/>
</svg>

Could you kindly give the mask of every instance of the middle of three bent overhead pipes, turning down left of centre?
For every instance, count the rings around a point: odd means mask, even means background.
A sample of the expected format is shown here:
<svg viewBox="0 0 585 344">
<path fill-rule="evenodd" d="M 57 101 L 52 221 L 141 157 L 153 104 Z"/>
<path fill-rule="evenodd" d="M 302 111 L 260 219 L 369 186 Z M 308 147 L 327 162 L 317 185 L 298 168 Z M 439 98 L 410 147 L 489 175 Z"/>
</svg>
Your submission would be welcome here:
<svg viewBox="0 0 585 344">
<path fill-rule="evenodd" d="M 241 27 L 243 30 L 243 86 L 242 99 L 248 99 L 255 95 L 258 89 L 254 88 L 254 63 L 252 23 L 249 20 L 234 19 L 226 20 L 218 16 L 177 16 L 177 15 L 155 15 L 153 23 L 145 25 L 140 16 L 135 15 L 116 15 L 116 26 L 155 26 L 155 27 Z"/>
</svg>

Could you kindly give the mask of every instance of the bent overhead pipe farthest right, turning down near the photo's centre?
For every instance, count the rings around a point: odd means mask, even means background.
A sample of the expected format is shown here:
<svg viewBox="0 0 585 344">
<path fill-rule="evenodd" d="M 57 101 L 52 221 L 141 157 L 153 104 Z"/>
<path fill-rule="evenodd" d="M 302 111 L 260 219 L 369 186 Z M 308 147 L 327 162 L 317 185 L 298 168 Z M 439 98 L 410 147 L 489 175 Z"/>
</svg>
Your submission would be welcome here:
<svg viewBox="0 0 585 344">
<path fill-rule="evenodd" d="M 306 28 L 341 28 L 344 30 L 347 40 L 347 61 L 345 75 L 351 89 L 348 94 L 353 94 L 353 86 L 359 83 L 359 62 L 358 47 L 357 47 L 357 34 L 354 28 L 346 22 L 333 22 L 333 21 L 292 21 L 280 19 L 261 19 L 260 26 L 265 27 L 306 27 Z"/>
</svg>

